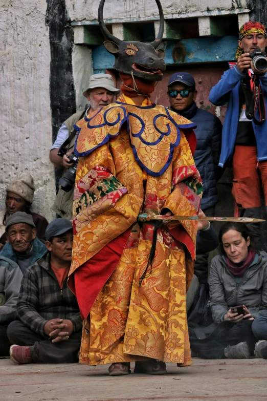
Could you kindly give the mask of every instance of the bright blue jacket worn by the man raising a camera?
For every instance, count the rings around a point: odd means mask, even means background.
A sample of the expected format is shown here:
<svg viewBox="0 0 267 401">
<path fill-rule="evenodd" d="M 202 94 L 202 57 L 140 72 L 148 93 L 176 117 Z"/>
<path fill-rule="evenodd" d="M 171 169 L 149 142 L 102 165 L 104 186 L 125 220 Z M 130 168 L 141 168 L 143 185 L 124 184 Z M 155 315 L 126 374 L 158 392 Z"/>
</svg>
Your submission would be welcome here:
<svg viewBox="0 0 267 401">
<path fill-rule="evenodd" d="M 235 66 L 230 70 L 226 71 L 222 75 L 220 81 L 212 88 L 209 100 L 215 106 L 223 106 L 228 102 L 227 112 L 225 116 L 224 128 L 222 129 L 222 146 L 219 160 L 219 166 L 223 167 L 224 164 L 229 161 L 232 157 L 235 145 L 235 138 L 237 132 L 237 125 L 239 120 L 239 87 L 242 78 L 246 77 L 246 74 L 242 73 Z M 261 89 L 267 104 L 267 73 L 260 77 Z M 267 159 L 267 120 L 261 124 L 253 124 L 253 129 L 257 142 L 257 159 Z"/>
</svg>

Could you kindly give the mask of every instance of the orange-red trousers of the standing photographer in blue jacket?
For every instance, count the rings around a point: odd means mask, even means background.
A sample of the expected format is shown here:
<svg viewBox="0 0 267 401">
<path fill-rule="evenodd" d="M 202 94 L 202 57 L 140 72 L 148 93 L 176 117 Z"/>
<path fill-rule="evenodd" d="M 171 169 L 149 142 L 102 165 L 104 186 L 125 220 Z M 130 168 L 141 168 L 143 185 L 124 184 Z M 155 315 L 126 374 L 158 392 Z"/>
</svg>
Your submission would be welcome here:
<svg viewBox="0 0 267 401">
<path fill-rule="evenodd" d="M 267 205 L 267 160 L 257 161 L 256 146 L 235 146 L 232 194 L 239 208 L 260 207 L 261 185 Z"/>
</svg>

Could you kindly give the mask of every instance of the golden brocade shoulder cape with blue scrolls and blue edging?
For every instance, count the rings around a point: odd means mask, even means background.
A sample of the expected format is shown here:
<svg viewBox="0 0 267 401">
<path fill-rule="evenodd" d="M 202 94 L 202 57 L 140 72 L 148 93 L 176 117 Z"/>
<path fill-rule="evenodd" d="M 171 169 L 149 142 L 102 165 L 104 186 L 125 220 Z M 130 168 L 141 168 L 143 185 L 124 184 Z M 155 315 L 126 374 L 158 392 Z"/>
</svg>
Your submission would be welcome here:
<svg viewBox="0 0 267 401">
<path fill-rule="evenodd" d="M 124 96 L 109 104 L 90 119 L 77 122 L 79 132 L 76 154 L 85 156 L 127 125 L 135 159 L 152 176 L 161 176 L 171 162 L 174 148 L 180 142 L 180 128 L 195 127 L 185 117 L 149 101 L 146 107 L 126 104 Z"/>
</svg>

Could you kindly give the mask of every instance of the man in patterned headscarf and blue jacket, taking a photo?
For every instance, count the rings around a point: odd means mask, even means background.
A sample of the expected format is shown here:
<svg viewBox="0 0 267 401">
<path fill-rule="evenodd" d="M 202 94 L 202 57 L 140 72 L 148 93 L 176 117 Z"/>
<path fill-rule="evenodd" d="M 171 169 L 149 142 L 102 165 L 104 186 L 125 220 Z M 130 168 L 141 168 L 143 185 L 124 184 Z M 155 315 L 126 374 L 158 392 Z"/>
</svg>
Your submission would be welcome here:
<svg viewBox="0 0 267 401">
<path fill-rule="evenodd" d="M 262 24 L 243 24 L 236 62 L 229 63 L 230 69 L 209 95 L 216 106 L 228 102 L 219 165 L 223 167 L 233 160 L 236 217 L 261 217 L 261 187 L 267 210 L 267 69 L 257 71 L 250 57 L 255 50 L 264 52 L 266 46 L 267 32 Z M 250 224 L 250 230 L 256 247 L 263 249 L 259 223 Z"/>
</svg>

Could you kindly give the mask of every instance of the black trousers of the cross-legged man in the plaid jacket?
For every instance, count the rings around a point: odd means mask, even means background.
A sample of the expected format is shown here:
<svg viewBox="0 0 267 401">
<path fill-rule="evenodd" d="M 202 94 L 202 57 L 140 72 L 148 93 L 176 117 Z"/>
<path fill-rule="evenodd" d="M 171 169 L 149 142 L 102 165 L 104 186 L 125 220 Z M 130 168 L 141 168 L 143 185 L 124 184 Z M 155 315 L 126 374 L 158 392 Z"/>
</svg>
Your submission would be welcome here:
<svg viewBox="0 0 267 401">
<path fill-rule="evenodd" d="M 36 364 L 66 364 L 78 362 L 82 330 L 70 335 L 69 340 L 52 343 L 47 336 L 36 334 L 18 320 L 7 330 L 11 344 L 30 346 L 31 357 Z"/>
</svg>

